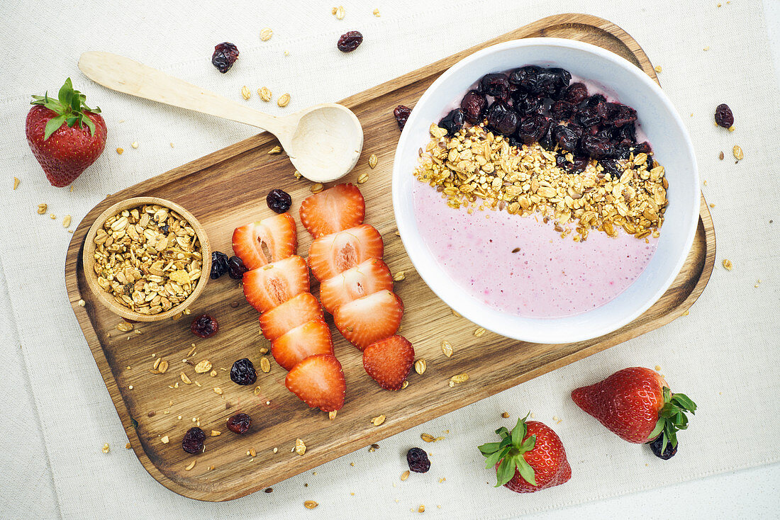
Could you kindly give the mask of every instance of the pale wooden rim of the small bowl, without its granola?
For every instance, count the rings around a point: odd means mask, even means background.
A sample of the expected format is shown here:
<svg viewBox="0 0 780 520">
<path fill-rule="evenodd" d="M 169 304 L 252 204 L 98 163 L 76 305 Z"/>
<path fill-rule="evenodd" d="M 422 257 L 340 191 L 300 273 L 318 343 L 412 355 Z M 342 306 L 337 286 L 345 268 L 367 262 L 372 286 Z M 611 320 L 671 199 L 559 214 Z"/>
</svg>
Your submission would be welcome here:
<svg viewBox="0 0 780 520">
<path fill-rule="evenodd" d="M 158 314 L 137 313 L 134 310 L 130 310 L 129 307 L 117 303 L 111 293 L 105 292 L 103 288 L 97 284 L 97 274 L 95 274 L 94 271 L 94 237 L 97 234 L 97 230 L 101 229 L 105 221 L 107 221 L 108 218 L 113 217 L 115 214 L 118 214 L 123 210 L 131 210 L 135 207 L 143 206 L 144 204 L 158 204 L 159 206 L 167 207 L 170 210 L 176 211 L 176 213 L 181 215 L 195 230 L 195 235 L 197 235 L 198 242 L 200 242 L 200 253 L 203 255 L 203 266 L 200 268 L 200 278 L 198 278 L 197 285 L 195 285 L 193 292 L 191 292 L 183 302 L 179 303 L 179 305 L 173 306 L 172 308 Z M 97 217 L 97 219 L 92 223 L 90 231 L 87 232 L 87 239 L 84 242 L 82 262 L 84 275 L 87 277 L 87 285 L 90 286 L 92 292 L 94 292 L 94 294 L 97 296 L 97 299 L 100 300 L 103 305 L 107 306 L 108 309 L 112 311 L 112 313 L 118 314 L 127 320 L 159 321 L 166 320 L 176 315 L 177 313 L 182 312 L 188 306 L 190 306 L 192 302 L 195 301 L 195 299 L 197 299 L 201 292 L 203 292 L 203 289 L 206 287 L 207 281 L 209 280 L 209 274 L 211 273 L 211 246 L 208 243 L 206 231 L 204 230 L 203 226 L 200 225 L 200 222 L 197 221 L 197 218 L 193 217 L 189 211 L 179 206 L 179 204 L 173 203 L 170 200 L 159 199 L 158 197 L 154 196 L 137 196 L 115 203 L 112 207 L 109 207 L 107 210 L 101 213 L 99 217 Z"/>
</svg>

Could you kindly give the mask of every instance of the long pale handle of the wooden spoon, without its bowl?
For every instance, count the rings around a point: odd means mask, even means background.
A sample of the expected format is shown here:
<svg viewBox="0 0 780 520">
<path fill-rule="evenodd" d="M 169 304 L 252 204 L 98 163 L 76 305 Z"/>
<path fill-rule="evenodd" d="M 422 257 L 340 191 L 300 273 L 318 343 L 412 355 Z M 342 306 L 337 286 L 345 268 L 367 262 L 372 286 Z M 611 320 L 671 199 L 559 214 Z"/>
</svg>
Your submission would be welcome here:
<svg viewBox="0 0 780 520">
<path fill-rule="evenodd" d="M 286 122 L 273 115 L 230 101 L 124 56 L 85 52 L 79 59 L 79 69 L 95 83 L 131 96 L 257 126 L 280 139 L 289 130 Z"/>
</svg>

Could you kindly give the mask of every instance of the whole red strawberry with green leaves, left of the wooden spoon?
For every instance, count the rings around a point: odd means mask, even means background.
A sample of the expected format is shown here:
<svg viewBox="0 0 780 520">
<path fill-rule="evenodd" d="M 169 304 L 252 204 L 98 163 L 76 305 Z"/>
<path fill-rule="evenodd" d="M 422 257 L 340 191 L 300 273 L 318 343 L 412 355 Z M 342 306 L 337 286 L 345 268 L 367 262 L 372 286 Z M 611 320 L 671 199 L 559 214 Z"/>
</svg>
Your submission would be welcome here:
<svg viewBox="0 0 780 520">
<path fill-rule="evenodd" d="M 105 121 L 100 108 L 89 108 L 87 97 L 73 90 L 70 78 L 57 99 L 33 96 L 27 113 L 27 143 L 44 168 L 51 186 L 68 186 L 100 157 L 105 148 Z"/>
</svg>

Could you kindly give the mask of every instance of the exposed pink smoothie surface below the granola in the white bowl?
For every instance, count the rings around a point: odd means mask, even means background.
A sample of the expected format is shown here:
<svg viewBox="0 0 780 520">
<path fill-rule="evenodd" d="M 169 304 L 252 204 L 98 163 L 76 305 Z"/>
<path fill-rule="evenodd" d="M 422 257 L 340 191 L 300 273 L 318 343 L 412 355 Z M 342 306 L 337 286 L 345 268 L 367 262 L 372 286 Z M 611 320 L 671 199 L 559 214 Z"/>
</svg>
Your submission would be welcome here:
<svg viewBox="0 0 780 520">
<path fill-rule="evenodd" d="M 585 242 L 562 239 L 541 214 L 468 214 L 423 182 L 412 196 L 420 235 L 442 271 L 474 298 L 518 316 L 566 317 L 602 306 L 642 274 L 658 246 L 652 237 L 646 243 L 596 230 Z"/>
</svg>

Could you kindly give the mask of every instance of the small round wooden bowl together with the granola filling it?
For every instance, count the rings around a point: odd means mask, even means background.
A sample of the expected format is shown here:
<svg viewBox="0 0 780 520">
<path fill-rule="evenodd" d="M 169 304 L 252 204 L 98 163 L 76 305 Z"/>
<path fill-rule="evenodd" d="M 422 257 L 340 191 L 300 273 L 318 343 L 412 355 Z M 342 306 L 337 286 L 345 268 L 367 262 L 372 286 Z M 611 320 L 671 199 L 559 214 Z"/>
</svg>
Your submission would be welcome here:
<svg viewBox="0 0 780 520">
<path fill-rule="evenodd" d="M 203 292 L 211 247 L 196 218 L 151 196 L 115 203 L 92 224 L 83 249 L 87 285 L 113 313 L 165 320 Z"/>
</svg>

